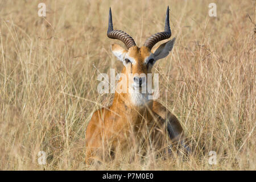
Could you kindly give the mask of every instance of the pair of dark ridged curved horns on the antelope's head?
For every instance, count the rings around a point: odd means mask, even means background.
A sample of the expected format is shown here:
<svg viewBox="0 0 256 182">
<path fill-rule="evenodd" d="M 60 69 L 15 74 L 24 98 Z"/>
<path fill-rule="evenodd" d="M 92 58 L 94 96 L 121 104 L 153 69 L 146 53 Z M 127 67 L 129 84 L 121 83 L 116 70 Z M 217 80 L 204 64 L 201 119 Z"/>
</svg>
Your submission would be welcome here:
<svg viewBox="0 0 256 182">
<path fill-rule="evenodd" d="M 125 43 L 125 46 L 127 49 L 130 47 L 136 46 L 133 38 L 128 35 L 126 32 L 123 32 L 121 30 L 113 30 L 113 23 L 112 23 L 112 12 L 111 8 L 109 9 L 109 28 L 107 35 L 110 39 L 119 39 L 123 43 Z M 169 6 L 166 10 L 166 21 L 164 26 L 164 32 L 158 32 L 154 35 L 151 35 L 150 38 L 146 40 L 143 46 L 152 48 L 156 43 L 158 43 L 161 40 L 168 39 L 171 37 L 171 28 L 169 23 Z"/>
</svg>

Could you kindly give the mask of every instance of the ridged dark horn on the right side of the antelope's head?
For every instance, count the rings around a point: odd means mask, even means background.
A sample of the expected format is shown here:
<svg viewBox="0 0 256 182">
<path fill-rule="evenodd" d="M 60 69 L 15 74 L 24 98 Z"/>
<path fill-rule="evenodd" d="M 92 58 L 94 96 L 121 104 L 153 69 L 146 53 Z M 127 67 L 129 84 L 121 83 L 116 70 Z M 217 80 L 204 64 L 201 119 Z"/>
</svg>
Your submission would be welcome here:
<svg viewBox="0 0 256 182">
<path fill-rule="evenodd" d="M 172 35 L 172 32 L 171 32 L 170 22 L 169 22 L 169 6 L 168 6 L 166 10 L 166 23 L 164 26 L 164 32 L 158 32 L 154 35 L 151 35 L 150 38 L 148 38 L 144 43 L 144 46 L 152 49 L 152 47 L 156 43 L 158 43 L 161 40 L 170 38 L 171 35 Z"/>
</svg>

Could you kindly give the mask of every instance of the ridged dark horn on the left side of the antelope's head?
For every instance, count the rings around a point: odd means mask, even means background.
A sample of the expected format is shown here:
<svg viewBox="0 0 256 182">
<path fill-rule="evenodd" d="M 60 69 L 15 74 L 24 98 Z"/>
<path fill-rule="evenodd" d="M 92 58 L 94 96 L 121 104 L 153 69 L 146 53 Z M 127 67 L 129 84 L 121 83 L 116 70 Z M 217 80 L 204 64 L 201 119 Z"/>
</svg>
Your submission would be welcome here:
<svg viewBox="0 0 256 182">
<path fill-rule="evenodd" d="M 126 32 L 121 30 L 113 30 L 111 8 L 109 8 L 109 28 L 108 28 L 107 35 L 110 39 L 121 40 L 125 44 L 127 49 L 129 49 L 130 47 L 136 46 L 133 38 L 130 35 L 128 35 Z"/>
</svg>

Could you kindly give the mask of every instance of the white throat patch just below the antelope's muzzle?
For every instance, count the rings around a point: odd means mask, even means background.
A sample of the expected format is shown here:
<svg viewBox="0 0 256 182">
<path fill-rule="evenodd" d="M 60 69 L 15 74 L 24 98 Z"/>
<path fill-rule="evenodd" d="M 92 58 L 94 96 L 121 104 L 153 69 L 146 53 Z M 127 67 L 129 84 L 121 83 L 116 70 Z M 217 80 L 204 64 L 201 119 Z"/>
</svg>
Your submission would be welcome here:
<svg viewBox="0 0 256 182">
<path fill-rule="evenodd" d="M 134 89 L 131 89 L 130 100 L 134 106 L 141 107 L 147 104 L 148 95 L 147 93 L 138 93 Z"/>
</svg>

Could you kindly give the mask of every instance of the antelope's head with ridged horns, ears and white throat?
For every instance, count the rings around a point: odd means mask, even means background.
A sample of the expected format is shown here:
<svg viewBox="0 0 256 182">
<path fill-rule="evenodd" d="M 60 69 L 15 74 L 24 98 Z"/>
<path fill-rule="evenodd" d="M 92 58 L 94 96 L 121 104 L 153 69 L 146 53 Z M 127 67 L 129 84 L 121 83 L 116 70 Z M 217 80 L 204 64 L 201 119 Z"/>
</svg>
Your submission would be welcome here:
<svg viewBox="0 0 256 182">
<path fill-rule="evenodd" d="M 140 90 L 143 85 L 146 85 L 147 75 L 151 73 L 153 65 L 157 60 L 168 56 L 172 47 L 174 47 L 175 38 L 152 49 L 159 41 L 171 37 L 169 7 L 167 7 L 166 11 L 164 31 L 151 35 L 141 48 L 136 46 L 133 38 L 126 32 L 113 29 L 111 9 L 109 9 L 109 27 L 107 35 L 110 39 L 121 40 L 127 47 L 127 49 L 125 49 L 118 44 L 112 44 L 111 50 L 123 63 L 124 67 L 122 73 L 126 76 L 126 79 L 121 78 L 119 81 L 126 80 L 125 85 L 127 85 L 129 89 L 130 103 L 134 106 L 145 105 L 148 102 L 148 93 L 135 92 L 135 90 Z"/>
</svg>

